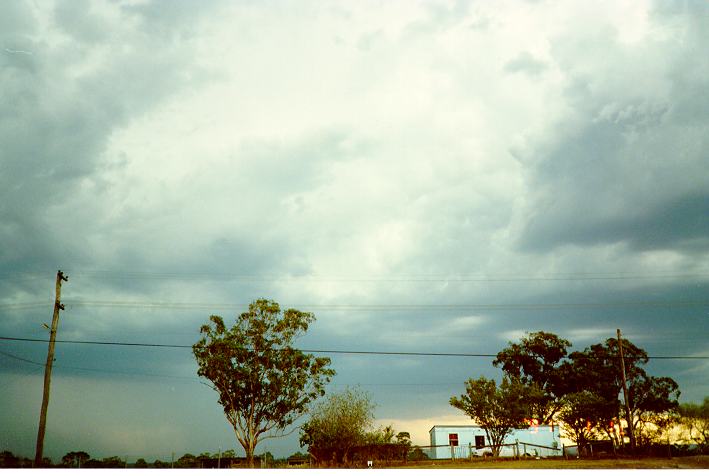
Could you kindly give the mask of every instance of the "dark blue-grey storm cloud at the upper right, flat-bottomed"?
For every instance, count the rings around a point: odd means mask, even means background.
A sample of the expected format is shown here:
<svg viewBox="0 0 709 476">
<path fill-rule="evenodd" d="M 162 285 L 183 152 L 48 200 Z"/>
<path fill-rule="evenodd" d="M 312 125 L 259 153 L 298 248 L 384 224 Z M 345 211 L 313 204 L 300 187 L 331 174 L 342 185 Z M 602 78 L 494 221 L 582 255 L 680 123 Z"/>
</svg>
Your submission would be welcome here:
<svg viewBox="0 0 709 476">
<path fill-rule="evenodd" d="M 560 55 L 570 69 L 565 94 L 574 112 L 555 128 L 551 146 L 520 156 L 534 197 L 521 249 L 623 243 L 638 251 L 709 250 L 709 76 L 697 74 L 709 69 L 709 58 L 697 54 L 709 37 L 687 24 L 681 48 L 675 39 L 659 45 L 659 55 L 677 53 L 668 67 L 647 73 L 666 92 L 579 73 L 580 59 Z M 642 51 L 608 41 L 609 64 L 631 74 L 646 68 Z"/>
</svg>

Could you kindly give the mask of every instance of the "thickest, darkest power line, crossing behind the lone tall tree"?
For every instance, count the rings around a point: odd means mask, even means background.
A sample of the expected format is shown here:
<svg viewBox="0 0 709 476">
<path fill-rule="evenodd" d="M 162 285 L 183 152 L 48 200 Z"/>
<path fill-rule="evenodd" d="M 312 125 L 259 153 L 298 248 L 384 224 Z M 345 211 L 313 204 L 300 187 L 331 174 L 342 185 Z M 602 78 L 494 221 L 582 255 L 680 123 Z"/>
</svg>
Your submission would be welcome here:
<svg viewBox="0 0 709 476">
<path fill-rule="evenodd" d="M 0 340 L 21 341 L 21 342 L 49 342 L 47 339 L 32 339 L 23 337 L 0 336 Z M 84 340 L 59 340 L 64 344 L 90 344 L 90 345 L 113 345 L 128 347 L 154 347 L 172 349 L 191 349 L 191 345 L 185 344 L 154 344 L 144 342 L 114 342 L 114 341 L 84 341 Z M 497 354 L 471 354 L 453 352 L 390 352 L 390 351 L 368 351 L 368 350 L 330 350 L 330 349 L 300 349 L 303 352 L 314 354 L 351 354 L 351 355 L 388 355 L 388 356 L 414 356 L 414 357 L 497 357 Z M 648 359 L 663 360 L 709 360 L 709 356 L 648 356 Z"/>
</svg>

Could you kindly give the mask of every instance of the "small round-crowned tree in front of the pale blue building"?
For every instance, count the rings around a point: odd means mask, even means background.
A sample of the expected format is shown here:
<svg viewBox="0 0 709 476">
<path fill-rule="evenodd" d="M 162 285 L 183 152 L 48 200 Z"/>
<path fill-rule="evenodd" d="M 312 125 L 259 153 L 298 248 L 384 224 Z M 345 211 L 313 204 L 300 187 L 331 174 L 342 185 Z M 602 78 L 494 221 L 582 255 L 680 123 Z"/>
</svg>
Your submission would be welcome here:
<svg viewBox="0 0 709 476">
<path fill-rule="evenodd" d="M 451 397 L 450 404 L 462 410 L 485 430 L 493 456 L 500 455 L 505 438 L 516 428 L 527 428 L 530 406 L 529 387 L 519 380 L 494 380 L 480 377 L 465 383 L 465 394 Z"/>
</svg>

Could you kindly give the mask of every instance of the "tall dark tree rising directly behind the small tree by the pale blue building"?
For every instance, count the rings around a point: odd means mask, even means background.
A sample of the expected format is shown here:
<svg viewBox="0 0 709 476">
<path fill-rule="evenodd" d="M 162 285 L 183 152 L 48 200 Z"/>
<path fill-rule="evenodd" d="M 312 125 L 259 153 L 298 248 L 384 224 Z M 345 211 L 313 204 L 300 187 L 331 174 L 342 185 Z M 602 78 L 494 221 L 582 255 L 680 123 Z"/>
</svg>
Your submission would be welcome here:
<svg viewBox="0 0 709 476">
<path fill-rule="evenodd" d="M 549 424 L 561 408 L 563 376 L 559 367 L 570 346 L 571 342 L 556 334 L 532 332 L 519 343 L 510 342 L 492 362 L 511 379 L 519 379 L 534 390 L 529 395 L 532 416 L 542 424 Z"/>
</svg>

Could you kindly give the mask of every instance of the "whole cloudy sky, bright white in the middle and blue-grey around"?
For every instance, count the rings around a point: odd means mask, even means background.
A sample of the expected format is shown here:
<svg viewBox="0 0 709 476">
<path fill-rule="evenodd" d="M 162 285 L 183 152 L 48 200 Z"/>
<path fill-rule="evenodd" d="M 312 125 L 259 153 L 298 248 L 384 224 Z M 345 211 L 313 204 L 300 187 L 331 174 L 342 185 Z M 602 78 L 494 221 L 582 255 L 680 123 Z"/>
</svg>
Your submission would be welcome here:
<svg viewBox="0 0 709 476">
<path fill-rule="evenodd" d="M 258 298 L 311 350 L 527 332 L 709 356 L 709 4 L 3 2 L 0 336 L 192 345 Z M 0 340 L 34 455 L 46 342 Z M 489 357 L 319 354 L 428 443 Z M 44 453 L 235 449 L 188 348 L 58 343 Z M 680 402 L 709 360 L 651 359 Z M 301 450 L 297 430 L 257 453 Z"/>
</svg>

